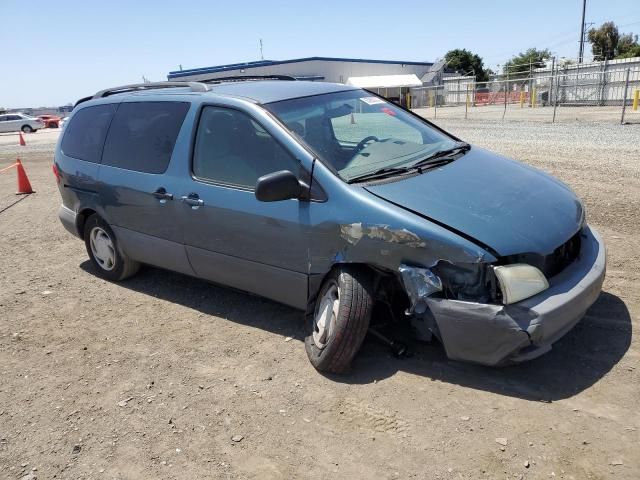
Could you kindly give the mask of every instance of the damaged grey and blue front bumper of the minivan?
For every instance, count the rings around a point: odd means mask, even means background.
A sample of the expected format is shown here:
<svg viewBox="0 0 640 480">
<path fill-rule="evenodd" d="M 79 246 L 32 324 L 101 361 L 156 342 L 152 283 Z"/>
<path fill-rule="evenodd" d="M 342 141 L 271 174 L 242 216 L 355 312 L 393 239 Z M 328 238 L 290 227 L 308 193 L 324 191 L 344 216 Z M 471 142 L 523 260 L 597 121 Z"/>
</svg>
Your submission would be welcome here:
<svg viewBox="0 0 640 480">
<path fill-rule="evenodd" d="M 578 259 L 550 279 L 547 290 L 513 305 L 428 298 L 447 356 L 484 365 L 520 362 L 551 345 L 582 319 L 602 289 L 606 251 L 585 227 Z"/>
</svg>

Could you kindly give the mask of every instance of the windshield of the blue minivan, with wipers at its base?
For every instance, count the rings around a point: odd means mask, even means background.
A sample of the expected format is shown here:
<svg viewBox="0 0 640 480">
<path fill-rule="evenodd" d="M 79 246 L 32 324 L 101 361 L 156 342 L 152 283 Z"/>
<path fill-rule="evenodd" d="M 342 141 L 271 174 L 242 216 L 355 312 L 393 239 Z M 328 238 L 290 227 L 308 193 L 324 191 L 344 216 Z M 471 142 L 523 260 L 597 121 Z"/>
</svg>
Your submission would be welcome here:
<svg viewBox="0 0 640 480">
<path fill-rule="evenodd" d="M 345 181 L 414 164 L 457 141 L 364 90 L 314 95 L 265 107 Z"/>
</svg>

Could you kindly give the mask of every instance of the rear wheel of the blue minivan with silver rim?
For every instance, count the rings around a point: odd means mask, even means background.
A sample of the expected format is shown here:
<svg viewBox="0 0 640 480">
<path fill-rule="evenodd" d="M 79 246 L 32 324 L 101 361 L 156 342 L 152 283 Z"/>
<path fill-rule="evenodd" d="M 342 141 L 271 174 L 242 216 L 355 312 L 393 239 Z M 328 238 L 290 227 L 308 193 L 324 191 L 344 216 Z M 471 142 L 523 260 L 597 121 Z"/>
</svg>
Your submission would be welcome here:
<svg viewBox="0 0 640 480">
<path fill-rule="evenodd" d="M 98 276 L 119 282 L 137 273 L 140 264 L 131 260 L 118 247 L 113 230 L 97 214 L 84 225 L 84 244 Z"/>
</svg>

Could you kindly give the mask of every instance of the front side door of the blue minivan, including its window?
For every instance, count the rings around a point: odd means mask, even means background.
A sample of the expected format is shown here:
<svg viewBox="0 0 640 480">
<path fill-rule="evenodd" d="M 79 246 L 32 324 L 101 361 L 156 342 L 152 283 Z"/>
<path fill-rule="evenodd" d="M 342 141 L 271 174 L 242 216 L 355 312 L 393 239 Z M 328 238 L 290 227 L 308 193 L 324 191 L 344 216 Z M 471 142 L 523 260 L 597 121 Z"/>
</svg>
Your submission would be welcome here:
<svg viewBox="0 0 640 480">
<path fill-rule="evenodd" d="M 184 240 L 198 276 L 305 308 L 313 204 L 254 195 L 257 179 L 279 170 L 301 166 L 257 121 L 205 106 L 181 192 Z"/>
</svg>

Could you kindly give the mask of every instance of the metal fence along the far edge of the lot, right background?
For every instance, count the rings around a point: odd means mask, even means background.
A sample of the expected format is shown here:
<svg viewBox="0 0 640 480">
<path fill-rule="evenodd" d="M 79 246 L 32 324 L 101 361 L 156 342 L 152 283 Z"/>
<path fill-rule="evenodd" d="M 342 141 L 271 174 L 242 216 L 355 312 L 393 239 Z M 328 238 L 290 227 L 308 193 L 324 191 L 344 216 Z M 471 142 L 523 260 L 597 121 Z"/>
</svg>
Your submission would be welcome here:
<svg viewBox="0 0 640 480">
<path fill-rule="evenodd" d="M 445 79 L 411 89 L 412 109 L 427 118 L 640 123 L 640 69 L 555 72 L 475 82 Z"/>
</svg>

